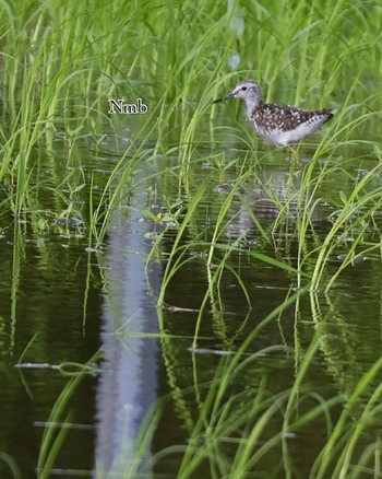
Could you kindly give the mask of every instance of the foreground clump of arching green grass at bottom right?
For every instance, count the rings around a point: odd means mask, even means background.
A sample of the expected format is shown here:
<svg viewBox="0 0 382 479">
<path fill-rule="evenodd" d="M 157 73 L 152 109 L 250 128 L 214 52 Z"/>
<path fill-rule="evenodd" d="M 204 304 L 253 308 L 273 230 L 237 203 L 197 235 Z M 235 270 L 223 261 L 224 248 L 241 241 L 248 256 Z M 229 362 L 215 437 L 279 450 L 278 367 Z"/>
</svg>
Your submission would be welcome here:
<svg viewBox="0 0 382 479">
<path fill-rule="evenodd" d="M 381 416 L 381 387 L 377 381 L 381 361 L 367 370 L 345 395 L 333 394 L 331 388 L 324 387 L 312 390 L 309 384 L 309 372 L 319 361 L 325 340 L 324 323 L 318 326 L 303 351 L 285 344 L 253 350 L 261 330 L 276 322 L 302 294 L 299 292 L 286 297 L 284 304 L 253 329 L 235 354 L 224 355 L 211 381 L 198 383 L 198 374 L 194 374 L 196 382 L 180 389 L 175 374 L 171 396 L 163 397 L 142 424 L 136 443 L 136 457 L 142 462 L 139 466 L 139 463 L 132 465 L 123 477 L 139 477 L 147 468 L 159 471 L 166 463 L 171 464 L 171 474 L 179 478 L 196 475 L 216 479 L 244 478 L 251 474 L 266 474 L 270 468 L 277 477 L 297 475 L 334 479 L 348 477 L 349 474 L 355 478 L 365 477 L 365 474 L 379 476 L 381 444 L 378 437 L 373 440 L 372 431 Z M 163 339 L 167 341 L 165 337 Z M 164 348 L 169 357 L 170 349 L 169 344 Z M 288 389 L 275 389 L 272 379 L 255 367 L 264 357 L 273 354 L 283 358 L 286 363 L 296 363 L 295 381 Z M 195 351 L 193 361 L 196 364 L 201 362 L 200 367 L 203 367 L 203 354 Z M 168 364 L 171 367 L 174 361 Z M 234 393 L 250 370 L 258 371 L 256 386 Z M 191 428 L 189 441 L 165 447 L 154 456 L 145 454 L 150 437 L 155 434 L 153 422 L 160 424 L 164 407 L 170 400 L 175 401 L 177 413 L 183 411 L 187 416 L 184 424 Z M 193 401 L 199 407 L 196 419 L 190 414 Z M 300 442 L 309 442 L 312 423 L 320 431 L 320 447 L 301 469 Z M 117 465 L 115 470 L 99 472 L 97 477 L 112 477 L 118 470 Z"/>
</svg>

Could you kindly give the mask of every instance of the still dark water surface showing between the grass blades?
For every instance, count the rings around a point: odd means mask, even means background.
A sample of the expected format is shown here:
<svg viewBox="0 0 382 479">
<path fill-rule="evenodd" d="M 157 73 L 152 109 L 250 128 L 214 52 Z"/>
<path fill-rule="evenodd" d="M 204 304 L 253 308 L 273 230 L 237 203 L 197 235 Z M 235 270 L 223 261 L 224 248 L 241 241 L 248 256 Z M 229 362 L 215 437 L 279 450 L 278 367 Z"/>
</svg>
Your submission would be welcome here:
<svg viewBox="0 0 382 479">
<path fill-rule="evenodd" d="M 51 163 L 62 154 L 49 152 Z M 204 242 L 211 241 L 219 209 L 244 161 L 244 153 L 232 152 L 232 166 L 222 173 L 203 154 L 202 161 L 191 165 L 190 177 L 193 185 L 207 177 L 207 192 L 193 224 L 184 233 L 183 244 L 198 229 Z M 100 185 L 119 159 L 110 152 L 89 156 L 87 148 L 79 149 L 80 156 L 87 162 L 83 174 L 95 171 Z M 242 200 L 262 227 L 271 231 L 278 209 L 263 185 L 271 185 L 283 201 L 290 174 L 283 152 L 271 153 L 267 159 L 229 207 L 230 223 L 219 241 L 227 244 L 240 241 L 241 248 L 231 254 L 227 260 L 229 268 L 219 279 L 219 307 L 204 308 L 193 352 L 192 338 L 208 289 L 206 246 L 200 242 L 188 252 L 190 260 L 176 272 L 167 289 L 165 307 L 157 311 L 156 301 L 177 229 L 174 225 L 174 230 L 164 231 L 163 225 L 154 224 L 143 213 L 144 209 L 166 213 L 176 205 L 174 213 L 192 197 L 192 186 L 187 192 L 179 191 L 170 159 L 153 157 L 142 164 L 133 186 L 127 187 L 124 199 L 114 213 L 106 246 L 99 250 L 88 247 L 86 221 L 72 224 L 55 221 L 62 205 L 57 199 L 51 201 L 47 194 L 40 194 L 40 201 L 46 205 L 40 229 L 34 230 L 29 223 L 11 215 L 1 217 L 1 477 L 36 477 L 44 431 L 55 402 L 72 377 L 64 372 L 77 367 L 68 362 L 89 361 L 93 373 L 82 378 L 70 394 L 63 413 L 56 418 L 56 434 L 63 431 L 64 435 L 59 440 L 50 476 L 104 477 L 103 471 L 112 470 L 112 477 L 135 477 L 134 471 L 139 471 L 136 477 L 176 477 L 179 456 L 167 455 L 157 462 L 154 457 L 190 437 L 201 401 L 195 385 L 210 382 L 222 357 L 237 350 L 296 288 L 288 272 L 250 254 L 274 257 L 275 245 L 264 241 Z M 362 165 L 354 162 L 347 166 L 347 171 L 336 171 L 325 184 L 327 195 L 334 197 L 338 184 L 348 194 L 354 187 L 349 178 L 374 165 L 363 161 Z M 162 173 L 155 175 L 156 172 Z M 381 172 L 377 182 L 381 182 Z M 298 188 L 298 179 L 291 187 Z M 296 214 L 293 208 L 289 213 Z M 312 219 L 314 231 L 306 237 L 308 248 L 313 248 L 317 238 L 326 234 L 332 213 L 333 208 L 327 205 L 317 208 Z M 180 212 L 180 221 L 183 214 Z M 370 241 L 380 234 L 380 226 L 381 217 L 375 217 Z M 162 233 L 159 248 L 153 254 L 154 237 Z M 297 246 L 286 241 L 288 229 L 276 232 L 275 237 L 280 250 L 289 248 L 288 256 L 294 262 Z M 346 247 L 335 252 L 325 274 L 336 271 L 345 253 Z M 218 253 L 215 259 L 219 259 Z M 286 354 L 285 350 L 306 348 L 318 322 L 324 325 L 325 340 L 309 371 L 310 384 L 326 397 L 353 390 L 360 375 L 381 354 L 381 261 L 373 255 L 366 256 L 345 270 L 327 294 L 322 291 L 302 294 L 298 308 L 291 305 L 278 320 L 259 331 L 249 352 L 273 346 L 280 349 L 250 363 L 238 377 L 236 392 L 255 388 L 265 376 L 273 392 L 289 388 L 296 364 L 294 354 Z M 95 357 L 99 351 L 102 359 Z M 63 371 L 59 367 L 62 364 L 67 364 Z M 142 422 L 164 397 L 156 430 L 140 457 L 136 447 Z M 277 421 L 273 427 L 276 431 Z M 295 468 L 299 471 L 296 477 L 305 477 L 324 440 L 324 425 L 313 421 L 311 431 L 290 441 Z M 305 454 L 299 453 L 301 447 Z M 265 477 L 273 467 L 274 458 L 265 457 L 255 477 Z M 201 471 L 208 477 L 208 469 L 202 467 Z"/>
</svg>

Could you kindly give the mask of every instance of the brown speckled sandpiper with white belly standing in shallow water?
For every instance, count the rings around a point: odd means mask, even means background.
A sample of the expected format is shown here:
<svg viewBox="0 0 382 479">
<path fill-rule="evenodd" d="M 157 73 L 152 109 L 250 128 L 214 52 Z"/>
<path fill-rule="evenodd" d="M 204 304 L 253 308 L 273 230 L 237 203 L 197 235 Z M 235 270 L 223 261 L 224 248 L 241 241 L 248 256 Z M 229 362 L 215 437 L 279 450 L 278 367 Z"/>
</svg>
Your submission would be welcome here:
<svg viewBox="0 0 382 479">
<path fill-rule="evenodd" d="M 247 115 L 260 137 L 277 147 L 290 147 L 298 143 L 308 135 L 314 133 L 321 126 L 333 117 L 329 108 L 308 112 L 296 106 L 264 103 L 259 83 L 246 80 L 223 98 L 243 98 L 247 105 Z"/>
</svg>

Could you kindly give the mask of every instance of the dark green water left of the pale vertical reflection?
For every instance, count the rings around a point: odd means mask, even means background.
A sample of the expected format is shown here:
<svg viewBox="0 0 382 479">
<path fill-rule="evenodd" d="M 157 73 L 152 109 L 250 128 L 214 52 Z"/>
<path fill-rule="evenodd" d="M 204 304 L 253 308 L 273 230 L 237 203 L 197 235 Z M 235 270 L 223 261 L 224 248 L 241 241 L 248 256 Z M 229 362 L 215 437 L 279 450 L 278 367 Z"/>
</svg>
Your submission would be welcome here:
<svg viewBox="0 0 382 479">
<path fill-rule="evenodd" d="M 51 230 L 37 236 L 9 219 L 1 238 L 0 449 L 15 460 L 21 477 L 34 477 L 44 427 L 68 382 L 55 366 L 87 362 L 99 348 L 98 267 L 84 238 Z M 86 377 L 74 394 L 76 446 L 63 447 L 58 467 L 93 465 L 96 384 Z M 3 462 L 0 470 L 11 477 Z"/>
</svg>

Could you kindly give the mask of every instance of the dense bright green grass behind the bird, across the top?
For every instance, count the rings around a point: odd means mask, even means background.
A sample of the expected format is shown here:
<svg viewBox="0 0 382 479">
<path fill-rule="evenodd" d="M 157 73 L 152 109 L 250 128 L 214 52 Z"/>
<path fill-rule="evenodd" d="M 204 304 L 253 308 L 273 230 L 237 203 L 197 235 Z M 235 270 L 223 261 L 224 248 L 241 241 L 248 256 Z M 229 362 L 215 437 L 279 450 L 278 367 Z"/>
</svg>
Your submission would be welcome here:
<svg viewBox="0 0 382 479">
<path fill-rule="evenodd" d="M 198 12 L 192 2 L 184 2 L 181 9 L 170 2 L 150 2 L 120 15 L 122 5 L 115 1 L 109 9 L 107 2 L 100 2 L 95 13 L 71 2 L 60 8 L 48 2 L 36 9 L 2 2 L 3 22 L 12 27 L 4 28 L 2 54 L 2 114 L 8 128 L 3 130 L 7 141 L 0 179 L 9 178 L 10 203 L 17 214 L 25 207 L 33 208 L 28 189 L 34 145 L 51 144 L 61 132 L 71 144 L 89 132 L 99 133 L 98 125 L 107 118 L 107 98 L 126 96 L 128 91 L 129 96 L 139 96 L 145 90 L 151 100 L 150 114 L 134 138 L 143 140 L 144 150 L 147 139 L 155 137 L 154 153 L 176 138 L 179 175 L 188 189 L 192 156 L 202 142 L 211 143 L 215 137 L 213 124 L 205 129 L 204 121 L 210 112 L 216 118 L 211 101 L 238 78 L 261 77 L 267 100 L 305 106 L 309 94 L 310 103 L 318 107 L 339 104 L 334 128 L 322 143 L 331 155 L 378 113 L 378 94 L 365 95 L 365 85 L 372 79 L 362 68 L 367 55 L 375 62 L 380 55 L 378 15 L 368 16 L 370 9 L 377 8 L 374 2 L 369 10 L 346 2 L 332 9 L 332 3 L 325 2 L 320 15 L 314 4 L 305 3 L 284 8 L 283 15 L 273 4 L 243 8 L 239 2 L 213 9 L 204 5 Z M 368 25 L 370 34 L 359 25 Z M 139 52 L 130 48 L 134 42 L 141 42 Z M 212 49 L 213 45 L 218 47 Z M 229 72 L 235 56 L 239 63 Z M 277 68 L 271 70 L 271 63 Z M 277 94 L 280 90 L 286 92 L 283 98 Z M 253 141 L 251 135 L 248 144 Z M 102 202 L 109 202 L 111 209 L 118 206 L 118 194 L 110 186 L 114 189 L 117 184 L 120 189 L 118 185 L 146 157 L 132 147 L 122 152 L 121 165 L 129 163 L 129 173 L 117 166 Z M 98 246 L 109 220 L 102 210 L 103 206 L 94 206 L 94 214 L 104 219 L 95 218 L 91 227 Z"/>
</svg>

